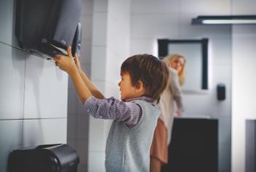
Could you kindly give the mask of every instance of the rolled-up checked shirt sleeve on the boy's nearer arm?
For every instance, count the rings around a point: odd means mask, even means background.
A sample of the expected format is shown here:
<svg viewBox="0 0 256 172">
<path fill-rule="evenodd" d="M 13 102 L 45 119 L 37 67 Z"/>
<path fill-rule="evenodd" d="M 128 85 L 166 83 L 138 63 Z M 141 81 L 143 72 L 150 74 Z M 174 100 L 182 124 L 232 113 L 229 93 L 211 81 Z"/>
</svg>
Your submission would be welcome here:
<svg viewBox="0 0 256 172">
<path fill-rule="evenodd" d="M 84 102 L 84 110 L 87 110 L 94 118 L 124 121 L 129 128 L 139 122 L 142 114 L 139 105 L 132 102 L 122 102 L 113 97 L 108 99 L 89 97 Z"/>
</svg>

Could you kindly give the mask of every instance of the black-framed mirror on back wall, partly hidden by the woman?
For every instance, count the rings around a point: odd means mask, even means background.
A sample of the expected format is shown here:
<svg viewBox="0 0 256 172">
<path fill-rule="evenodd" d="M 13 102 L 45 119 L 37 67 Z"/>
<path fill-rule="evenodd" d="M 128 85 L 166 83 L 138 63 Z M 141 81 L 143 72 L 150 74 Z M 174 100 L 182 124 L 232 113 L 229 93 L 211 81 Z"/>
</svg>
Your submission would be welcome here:
<svg viewBox="0 0 256 172">
<path fill-rule="evenodd" d="M 186 80 L 183 91 L 208 89 L 208 39 L 159 39 L 159 57 L 181 54 L 185 57 Z"/>
</svg>

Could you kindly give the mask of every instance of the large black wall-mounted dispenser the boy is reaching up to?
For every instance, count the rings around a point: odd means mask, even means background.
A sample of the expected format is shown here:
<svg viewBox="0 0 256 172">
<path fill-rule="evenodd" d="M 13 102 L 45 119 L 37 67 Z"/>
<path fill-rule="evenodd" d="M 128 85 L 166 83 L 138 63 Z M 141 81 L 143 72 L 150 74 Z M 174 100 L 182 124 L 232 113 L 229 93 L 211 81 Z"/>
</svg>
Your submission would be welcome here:
<svg viewBox="0 0 256 172">
<path fill-rule="evenodd" d="M 15 35 L 21 48 L 54 57 L 79 40 L 81 0 L 19 0 L 16 5 Z"/>
</svg>

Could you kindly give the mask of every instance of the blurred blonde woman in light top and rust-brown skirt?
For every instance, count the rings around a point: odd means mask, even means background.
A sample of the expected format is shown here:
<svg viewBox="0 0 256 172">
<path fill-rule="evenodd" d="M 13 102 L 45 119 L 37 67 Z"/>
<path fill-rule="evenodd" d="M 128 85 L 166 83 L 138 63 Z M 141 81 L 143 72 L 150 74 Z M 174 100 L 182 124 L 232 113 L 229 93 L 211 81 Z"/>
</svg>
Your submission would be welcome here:
<svg viewBox="0 0 256 172">
<path fill-rule="evenodd" d="M 185 58 L 171 54 L 163 60 L 169 67 L 169 81 L 158 105 L 161 114 L 151 144 L 151 172 L 160 172 L 161 166 L 168 163 L 173 119 L 175 115 L 181 116 L 183 111 L 181 86 L 185 82 Z"/>
</svg>

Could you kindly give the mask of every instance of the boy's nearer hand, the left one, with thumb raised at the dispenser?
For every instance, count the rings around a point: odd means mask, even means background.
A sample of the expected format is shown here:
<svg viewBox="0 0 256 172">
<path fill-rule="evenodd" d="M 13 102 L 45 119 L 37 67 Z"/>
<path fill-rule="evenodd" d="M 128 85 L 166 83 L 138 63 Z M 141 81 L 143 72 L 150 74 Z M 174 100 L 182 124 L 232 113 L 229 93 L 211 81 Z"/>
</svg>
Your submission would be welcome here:
<svg viewBox="0 0 256 172">
<path fill-rule="evenodd" d="M 63 55 L 55 55 L 53 60 L 57 62 L 57 65 L 59 66 L 60 70 L 64 70 L 65 72 L 70 74 L 71 71 L 76 70 L 76 64 L 73 61 L 71 53 L 71 46 L 68 46 L 67 53 L 68 57 L 65 57 Z"/>
</svg>

